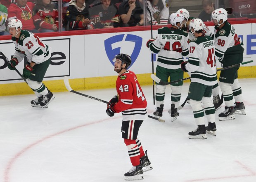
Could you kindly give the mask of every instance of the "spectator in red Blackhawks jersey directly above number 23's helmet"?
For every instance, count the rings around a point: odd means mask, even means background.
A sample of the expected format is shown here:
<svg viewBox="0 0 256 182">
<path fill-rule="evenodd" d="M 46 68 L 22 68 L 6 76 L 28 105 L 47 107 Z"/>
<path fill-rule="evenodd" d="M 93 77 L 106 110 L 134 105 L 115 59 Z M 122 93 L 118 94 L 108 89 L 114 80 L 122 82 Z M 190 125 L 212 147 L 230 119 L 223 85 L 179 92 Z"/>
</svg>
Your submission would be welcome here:
<svg viewBox="0 0 256 182">
<path fill-rule="evenodd" d="M 8 8 L 8 21 L 17 18 L 23 25 L 23 30 L 28 30 L 32 33 L 38 33 L 33 21 L 33 2 L 27 2 L 27 0 L 17 0 L 12 3 Z"/>
</svg>

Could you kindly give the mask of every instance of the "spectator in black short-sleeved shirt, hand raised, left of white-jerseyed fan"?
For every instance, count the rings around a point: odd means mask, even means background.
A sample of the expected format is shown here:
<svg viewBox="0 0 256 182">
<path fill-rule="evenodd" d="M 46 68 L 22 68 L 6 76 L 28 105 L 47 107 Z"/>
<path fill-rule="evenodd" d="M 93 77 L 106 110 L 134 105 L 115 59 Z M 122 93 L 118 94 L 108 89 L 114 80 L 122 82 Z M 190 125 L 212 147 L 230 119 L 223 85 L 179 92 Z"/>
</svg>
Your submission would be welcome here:
<svg viewBox="0 0 256 182">
<path fill-rule="evenodd" d="M 143 5 L 137 0 L 126 0 L 119 5 L 121 27 L 142 26 L 144 23 Z"/>
</svg>

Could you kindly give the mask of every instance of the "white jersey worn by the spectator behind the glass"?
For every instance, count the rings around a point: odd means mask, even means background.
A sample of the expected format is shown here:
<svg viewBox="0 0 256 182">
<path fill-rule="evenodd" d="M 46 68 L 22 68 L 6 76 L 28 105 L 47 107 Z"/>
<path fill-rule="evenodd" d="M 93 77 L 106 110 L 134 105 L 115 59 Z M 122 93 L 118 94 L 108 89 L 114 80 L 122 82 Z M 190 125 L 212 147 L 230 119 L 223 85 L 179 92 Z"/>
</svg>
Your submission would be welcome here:
<svg viewBox="0 0 256 182">
<path fill-rule="evenodd" d="M 160 7 L 154 6 L 152 7 L 152 4 L 147 1 L 147 7 L 149 8 L 151 14 L 152 14 L 152 25 L 167 25 L 168 18 L 169 18 L 169 7 L 168 2 L 166 0 L 161 0 L 163 2 L 163 9 L 160 11 Z M 150 22 L 150 14 L 147 13 L 147 21 Z"/>
</svg>

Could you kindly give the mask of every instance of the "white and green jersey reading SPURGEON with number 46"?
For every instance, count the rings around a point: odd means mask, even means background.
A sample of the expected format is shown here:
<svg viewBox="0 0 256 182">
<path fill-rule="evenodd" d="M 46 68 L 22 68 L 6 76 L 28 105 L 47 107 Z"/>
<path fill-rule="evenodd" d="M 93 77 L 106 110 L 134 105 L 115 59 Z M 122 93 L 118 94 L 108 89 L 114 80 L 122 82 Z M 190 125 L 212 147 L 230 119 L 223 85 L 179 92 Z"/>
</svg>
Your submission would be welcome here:
<svg viewBox="0 0 256 182">
<path fill-rule="evenodd" d="M 156 40 L 149 44 L 149 50 L 158 53 L 157 65 L 179 69 L 183 56 L 188 55 L 188 37 L 188 33 L 180 29 L 159 28 Z"/>
</svg>

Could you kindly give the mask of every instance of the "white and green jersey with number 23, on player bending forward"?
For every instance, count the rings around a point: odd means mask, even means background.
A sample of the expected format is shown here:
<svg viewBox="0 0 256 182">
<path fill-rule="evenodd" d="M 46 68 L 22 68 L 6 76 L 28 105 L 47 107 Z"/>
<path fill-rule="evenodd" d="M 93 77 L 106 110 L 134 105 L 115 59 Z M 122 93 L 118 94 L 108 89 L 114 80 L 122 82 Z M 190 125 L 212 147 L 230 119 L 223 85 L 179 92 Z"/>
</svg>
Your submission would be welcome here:
<svg viewBox="0 0 256 182">
<path fill-rule="evenodd" d="M 12 37 L 15 44 L 14 58 L 19 62 L 26 56 L 28 62 L 40 64 L 51 58 L 51 48 L 45 45 L 42 40 L 27 30 L 21 30 L 19 39 Z"/>
</svg>

